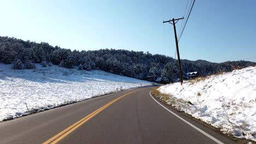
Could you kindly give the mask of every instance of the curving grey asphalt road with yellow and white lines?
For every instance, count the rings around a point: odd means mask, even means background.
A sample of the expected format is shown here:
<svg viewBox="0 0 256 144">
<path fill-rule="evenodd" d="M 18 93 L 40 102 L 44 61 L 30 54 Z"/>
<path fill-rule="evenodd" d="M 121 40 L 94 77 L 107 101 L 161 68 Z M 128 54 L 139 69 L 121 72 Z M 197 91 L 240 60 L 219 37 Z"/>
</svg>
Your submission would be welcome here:
<svg viewBox="0 0 256 144">
<path fill-rule="evenodd" d="M 130 89 L 0 122 L 0 143 L 235 143 L 149 92 Z"/>
</svg>

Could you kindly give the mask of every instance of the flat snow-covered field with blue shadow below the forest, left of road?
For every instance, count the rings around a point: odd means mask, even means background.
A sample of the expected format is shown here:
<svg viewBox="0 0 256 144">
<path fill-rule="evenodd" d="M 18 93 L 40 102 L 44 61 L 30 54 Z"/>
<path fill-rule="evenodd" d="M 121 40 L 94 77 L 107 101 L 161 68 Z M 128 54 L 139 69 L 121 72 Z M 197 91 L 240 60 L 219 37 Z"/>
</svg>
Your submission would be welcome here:
<svg viewBox="0 0 256 144">
<path fill-rule="evenodd" d="M 123 89 L 152 85 L 148 81 L 100 70 L 66 69 L 53 65 L 36 69 L 11 69 L 0 63 L 0 121 L 25 115 L 28 109 L 79 101 Z"/>
</svg>

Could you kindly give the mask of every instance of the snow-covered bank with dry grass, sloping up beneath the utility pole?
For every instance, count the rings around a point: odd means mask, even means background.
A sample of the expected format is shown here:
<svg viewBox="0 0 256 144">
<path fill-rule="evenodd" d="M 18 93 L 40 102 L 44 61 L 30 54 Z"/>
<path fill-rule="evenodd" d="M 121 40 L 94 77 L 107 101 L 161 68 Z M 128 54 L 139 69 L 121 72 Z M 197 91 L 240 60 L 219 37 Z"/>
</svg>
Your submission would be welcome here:
<svg viewBox="0 0 256 144">
<path fill-rule="evenodd" d="M 224 133 L 256 141 L 256 67 L 210 76 L 198 82 L 187 81 L 182 86 L 173 83 L 158 90 L 171 94 L 176 100 L 194 104 L 188 107 L 173 104 L 193 117 L 221 128 Z"/>
</svg>

